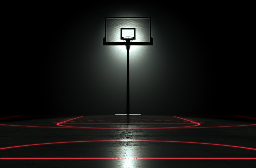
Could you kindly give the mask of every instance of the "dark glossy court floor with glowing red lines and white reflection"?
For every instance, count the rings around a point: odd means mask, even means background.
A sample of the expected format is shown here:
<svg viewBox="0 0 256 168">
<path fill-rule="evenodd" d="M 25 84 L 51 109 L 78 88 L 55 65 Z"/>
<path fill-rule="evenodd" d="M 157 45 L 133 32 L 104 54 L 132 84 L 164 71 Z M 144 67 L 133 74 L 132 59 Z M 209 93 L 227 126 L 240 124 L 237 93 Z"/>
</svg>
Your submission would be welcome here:
<svg viewBox="0 0 256 168">
<path fill-rule="evenodd" d="M 256 168 L 253 121 L 109 115 L 0 127 L 1 168 Z"/>
</svg>

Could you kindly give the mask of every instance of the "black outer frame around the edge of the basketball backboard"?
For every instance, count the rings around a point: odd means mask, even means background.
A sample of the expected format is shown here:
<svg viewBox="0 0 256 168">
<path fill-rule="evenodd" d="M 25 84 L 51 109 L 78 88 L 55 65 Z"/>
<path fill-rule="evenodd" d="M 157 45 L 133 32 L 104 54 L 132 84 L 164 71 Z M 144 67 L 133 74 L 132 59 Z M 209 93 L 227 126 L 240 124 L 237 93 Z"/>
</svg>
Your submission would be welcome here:
<svg viewBox="0 0 256 168">
<path fill-rule="evenodd" d="M 147 18 L 149 19 L 149 42 L 130 42 L 129 45 L 153 45 L 153 38 L 151 37 L 151 17 L 105 17 L 105 37 L 103 38 L 103 45 L 127 45 L 126 42 L 106 42 L 106 34 L 107 34 L 107 19 L 108 18 L 128 18 L 128 19 L 133 19 L 133 18 Z"/>
</svg>

